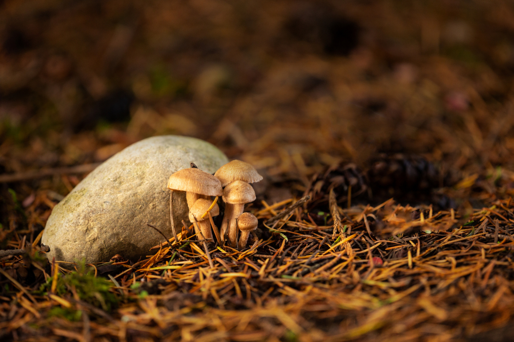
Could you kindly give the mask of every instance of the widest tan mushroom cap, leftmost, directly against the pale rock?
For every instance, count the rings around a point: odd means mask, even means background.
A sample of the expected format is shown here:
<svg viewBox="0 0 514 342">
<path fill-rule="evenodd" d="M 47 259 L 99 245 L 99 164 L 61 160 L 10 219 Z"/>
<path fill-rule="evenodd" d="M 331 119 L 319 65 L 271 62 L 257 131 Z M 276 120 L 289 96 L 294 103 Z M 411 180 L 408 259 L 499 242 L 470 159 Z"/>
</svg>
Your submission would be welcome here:
<svg viewBox="0 0 514 342">
<path fill-rule="evenodd" d="M 178 170 L 171 175 L 168 188 L 207 196 L 223 195 L 222 184 L 216 177 L 193 167 Z"/>
</svg>

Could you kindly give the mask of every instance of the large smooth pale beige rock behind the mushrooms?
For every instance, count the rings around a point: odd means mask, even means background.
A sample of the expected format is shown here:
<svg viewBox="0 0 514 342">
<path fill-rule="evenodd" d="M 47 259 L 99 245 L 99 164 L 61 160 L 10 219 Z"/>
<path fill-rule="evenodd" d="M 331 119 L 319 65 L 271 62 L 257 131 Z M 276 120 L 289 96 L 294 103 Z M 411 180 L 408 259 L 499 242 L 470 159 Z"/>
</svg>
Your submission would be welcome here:
<svg viewBox="0 0 514 342">
<path fill-rule="evenodd" d="M 116 254 L 131 260 L 149 254 L 163 238 L 146 223 L 173 236 L 166 184 L 190 162 L 213 174 L 228 160 L 205 141 L 160 136 L 141 140 L 105 161 L 53 208 L 42 237 L 50 246 L 48 258 L 84 258 L 89 263 Z M 185 194 L 174 194 L 176 226 L 182 219 L 189 222 Z"/>
</svg>

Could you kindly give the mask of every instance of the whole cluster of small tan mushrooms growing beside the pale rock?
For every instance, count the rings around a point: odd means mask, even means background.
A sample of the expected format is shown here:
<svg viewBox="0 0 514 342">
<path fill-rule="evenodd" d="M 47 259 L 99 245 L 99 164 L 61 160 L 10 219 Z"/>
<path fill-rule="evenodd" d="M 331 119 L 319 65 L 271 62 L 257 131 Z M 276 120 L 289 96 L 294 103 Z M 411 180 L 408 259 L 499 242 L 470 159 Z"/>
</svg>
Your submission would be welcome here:
<svg viewBox="0 0 514 342">
<path fill-rule="evenodd" d="M 214 176 L 200 170 L 194 163 L 191 163 L 190 168 L 175 172 L 168 180 L 168 188 L 171 190 L 170 220 L 175 239 L 177 235 L 173 222 L 173 193 L 185 191 L 189 220 L 194 225 L 198 239 L 213 241 L 212 216 L 219 214 L 216 201 L 222 196 L 225 202 L 225 215 L 221 225 L 221 240 L 225 241 L 228 236 L 233 248 L 245 248 L 250 232 L 257 228 L 258 223 L 253 214 L 244 213 L 245 204 L 255 200 L 255 192 L 249 183 L 262 179 L 252 165 L 240 160 L 233 160 L 220 167 Z M 212 201 L 211 196 L 216 196 L 216 199 Z M 238 231 L 241 231 L 239 241 Z"/>
</svg>

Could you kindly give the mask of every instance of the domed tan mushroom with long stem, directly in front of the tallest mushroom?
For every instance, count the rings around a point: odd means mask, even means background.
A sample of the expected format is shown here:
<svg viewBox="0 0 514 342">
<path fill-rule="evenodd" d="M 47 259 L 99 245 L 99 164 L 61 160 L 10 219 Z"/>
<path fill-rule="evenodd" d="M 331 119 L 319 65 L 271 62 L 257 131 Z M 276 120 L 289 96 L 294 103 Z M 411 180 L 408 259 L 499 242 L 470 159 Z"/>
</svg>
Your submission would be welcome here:
<svg viewBox="0 0 514 342">
<path fill-rule="evenodd" d="M 223 191 L 223 201 L 225 202 L 225 216 L 223 217 L 221 236 L 225 237 L 228 230 L 231 245 L 237 246 L 237 228 L 235 219 L 245 210 L 245 204 L 255 200 L 255 192 L 250 184 L 240 180 L 227 185 Z"/>
</svg>

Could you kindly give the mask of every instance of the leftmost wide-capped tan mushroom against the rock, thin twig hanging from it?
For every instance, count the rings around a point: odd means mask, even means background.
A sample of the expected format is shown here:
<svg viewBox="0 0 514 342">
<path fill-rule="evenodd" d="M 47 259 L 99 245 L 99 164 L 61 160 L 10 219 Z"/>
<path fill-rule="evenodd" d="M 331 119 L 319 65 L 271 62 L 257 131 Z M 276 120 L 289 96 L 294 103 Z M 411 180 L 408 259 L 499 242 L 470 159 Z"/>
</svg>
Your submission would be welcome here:
<svg viewBox="0 0 514 342">
<path fill-rule="evenodd" d="M 175 225 L 173 224 L 173 192 L 185 191 L 188 207 L 191 207 L 200 199 L 207 199 L 209 196 L 222 196 L 223 188 L 221 182 L 213 175 L 200 170 L 199 168 L 190 167 L 178 170 L 170 176 L 168 180 L 168 188 L 170 194 L 170 216 L 171 229 L 175 240 L 178 241 L 175 233 Z"/>
</svg>

